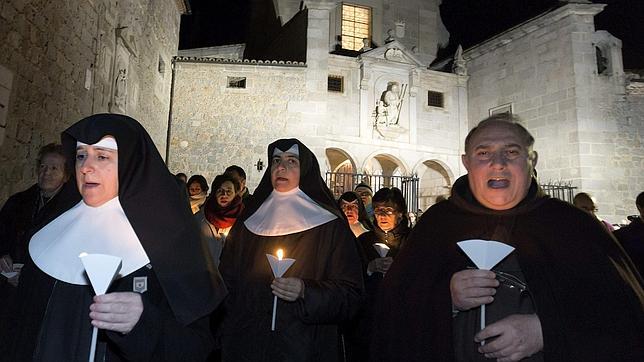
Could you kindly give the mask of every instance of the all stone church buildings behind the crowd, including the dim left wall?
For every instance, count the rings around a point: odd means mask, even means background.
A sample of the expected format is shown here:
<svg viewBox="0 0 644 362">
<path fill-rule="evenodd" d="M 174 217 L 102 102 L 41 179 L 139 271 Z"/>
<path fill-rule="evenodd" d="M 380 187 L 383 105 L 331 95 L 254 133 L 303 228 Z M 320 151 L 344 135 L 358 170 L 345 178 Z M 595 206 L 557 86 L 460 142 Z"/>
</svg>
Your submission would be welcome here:
<svg viewBox="0 0 644 362">
<path fill-rule="evenodd" d="M 468 130 L 511 111 L 536 137 L 541 183 L 594 194 L 611 222 L 636 213 L 644 82 L 595 29 L 604 5 L 562 2 L 441 62 L 440 0 L 265 3 L 282 25 L 265 49 L 179 56 L 189 1 L 0 4 L 0 199 L 35 181 L 38 149 L 63 129 L 115 112 L 141 121 L 172 172 L 211 180 L 238 164 L 252 189 L 266 146 L 297 137 L 335 193 L 408 182 L 425 209 L 465 173 Z"/>
</svg>

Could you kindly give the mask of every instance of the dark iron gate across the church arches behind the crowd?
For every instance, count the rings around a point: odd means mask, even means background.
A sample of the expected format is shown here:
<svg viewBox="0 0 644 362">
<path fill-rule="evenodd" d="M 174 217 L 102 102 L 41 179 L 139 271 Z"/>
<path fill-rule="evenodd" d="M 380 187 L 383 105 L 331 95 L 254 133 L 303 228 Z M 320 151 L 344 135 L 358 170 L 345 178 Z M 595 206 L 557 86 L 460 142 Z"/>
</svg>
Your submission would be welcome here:
<svg viewBox="0 0 644 362">
<path fill-rule="evenodd" d="M 383 187 L 397 187 L 405 197 L 407 211 L 416 212 L 418 210 L 419 180 L 417 176 L 382 176 L 327 171 L 324 181 L 336 199 L 346 191 L 353 191 L 360 182 L 371 186 L 374 193 Z"/>
</svg>

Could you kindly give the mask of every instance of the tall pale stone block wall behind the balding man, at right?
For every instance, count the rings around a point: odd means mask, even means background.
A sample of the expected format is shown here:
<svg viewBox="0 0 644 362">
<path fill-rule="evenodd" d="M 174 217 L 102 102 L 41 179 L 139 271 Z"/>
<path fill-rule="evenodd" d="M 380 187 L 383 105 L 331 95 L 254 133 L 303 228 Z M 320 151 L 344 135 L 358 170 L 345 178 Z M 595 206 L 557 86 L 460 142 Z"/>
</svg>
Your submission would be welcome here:
<svg viewBox="0 0 644 362">
<path fill-rule="evenodd" d="M 566 5 L 468 49 L 469 121 L 511 106 L 535 136 L 540 181 L 571 182 L 619 222 L 632 209 L 627 194 L 644 189 L 641 177 L 625 177 L 642 173 L 641 163 L 632 169 L 643 156 L 641 134 L 631 133 L 642 126 L 624 99 L 621 43 L 605 34 L 613 64 L 598 74 L 593 16 L 602 8 Z"/>
</svg>

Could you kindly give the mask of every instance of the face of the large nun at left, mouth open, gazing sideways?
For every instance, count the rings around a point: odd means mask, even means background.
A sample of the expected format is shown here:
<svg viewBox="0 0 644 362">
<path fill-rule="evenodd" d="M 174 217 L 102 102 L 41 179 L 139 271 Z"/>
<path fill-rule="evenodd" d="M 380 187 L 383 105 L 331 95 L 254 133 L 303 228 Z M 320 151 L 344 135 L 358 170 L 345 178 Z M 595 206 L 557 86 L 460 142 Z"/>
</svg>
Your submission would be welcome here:
<svg viewBox="0 0 644 362">
<path fill-rule="evenodd" d="M 93 145 L 76 148 L 76 185 L 89 206 L 101 206 L 118 196 L 118 151 Z"/>
</svg>

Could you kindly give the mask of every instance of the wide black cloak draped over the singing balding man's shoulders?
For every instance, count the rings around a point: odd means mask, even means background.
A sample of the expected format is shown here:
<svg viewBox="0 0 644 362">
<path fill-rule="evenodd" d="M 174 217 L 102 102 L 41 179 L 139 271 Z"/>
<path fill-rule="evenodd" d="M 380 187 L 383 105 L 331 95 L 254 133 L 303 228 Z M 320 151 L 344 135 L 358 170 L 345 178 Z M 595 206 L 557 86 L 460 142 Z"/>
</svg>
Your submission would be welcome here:
<svg viewBox="0 0 644 362">
<path fill-rule="evenodd" d="M 373 361 L 455 359 L 449 283 L 469 264 L 456 243 L 490 239 L 499 225 L 534 297 L 546 361 L 644 360 L 642 282 L 603 226 L 536 182 L 515 208 L 486 209 L 465 176 L 423 214 L 383 281 Z"/>
</svg>

